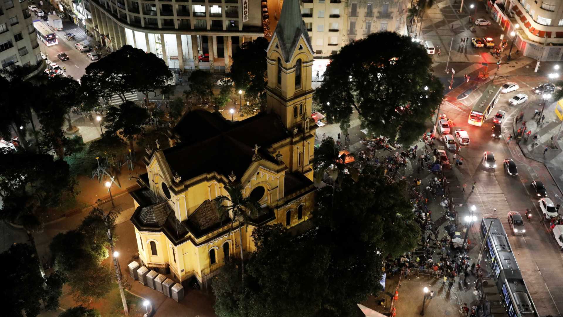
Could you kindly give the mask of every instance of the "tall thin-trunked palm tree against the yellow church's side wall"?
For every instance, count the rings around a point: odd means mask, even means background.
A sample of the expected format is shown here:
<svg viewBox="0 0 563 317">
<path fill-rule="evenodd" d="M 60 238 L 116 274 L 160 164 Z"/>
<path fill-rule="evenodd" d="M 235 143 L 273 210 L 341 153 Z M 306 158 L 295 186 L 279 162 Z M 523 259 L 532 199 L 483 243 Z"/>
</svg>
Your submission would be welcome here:
<svg viewBox="0 0 563 317">
<path fill-rule="evenodd" d="M 244 285 L 244 256 L 243 256 L 243 234 L 242 226 L 248 229 L 248 216 L 257 214 L 260 205 L 258 201 L 251 197 L 244 197 L 243 186 L 240 182 L 231 183 L 225 186 L 227 196 L 219 195 L 213 199 L 217 205 L 217 212 L 221 217 L 229 216 L 231 218 L 231 231 L 236 220 L 239 221 L 239 239 L 240 239 L 240 263 L 242 268 L 242 282 Z"/>
</svg>

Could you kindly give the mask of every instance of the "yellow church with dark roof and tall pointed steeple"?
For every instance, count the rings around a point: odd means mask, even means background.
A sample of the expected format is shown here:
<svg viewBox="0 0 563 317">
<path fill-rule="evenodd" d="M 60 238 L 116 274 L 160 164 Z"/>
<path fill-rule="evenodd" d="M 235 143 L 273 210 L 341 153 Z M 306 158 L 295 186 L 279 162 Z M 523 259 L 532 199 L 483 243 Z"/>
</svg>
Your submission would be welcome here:
<svg viewBox="0 0 563 317">
<path fill-rule="evenodd" d="M 315 186 L 311 118 L 313 51 L 298 0 L 285 0 L 267 48 L 267 110 L 243 121 L 194 107 L 169 133 L 170 148 L 145 157 L 132 192 L 142 265 L 183 282 L 205 283 L 231 257 L 254 250 L 252 230 L 311 226 Z M 248 229 L 221 216 L 213 199 L 240 182 L 261 205 Z"/>
</svg>

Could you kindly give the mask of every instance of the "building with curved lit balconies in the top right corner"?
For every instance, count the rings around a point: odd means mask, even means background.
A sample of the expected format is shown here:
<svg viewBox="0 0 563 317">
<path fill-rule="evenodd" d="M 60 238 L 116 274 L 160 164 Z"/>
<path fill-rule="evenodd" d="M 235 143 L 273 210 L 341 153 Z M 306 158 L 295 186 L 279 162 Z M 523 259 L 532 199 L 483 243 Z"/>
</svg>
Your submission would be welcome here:
<svg viewBox="0 0 563 317">
<path fill-rule="evenodd" d="M 488 0 L 486 5 L 490 16 L 507 34 L 516 31 L 514 46 L 524 56 L 542 61 L 563 60 L 563 1 Z"/>
</svg>

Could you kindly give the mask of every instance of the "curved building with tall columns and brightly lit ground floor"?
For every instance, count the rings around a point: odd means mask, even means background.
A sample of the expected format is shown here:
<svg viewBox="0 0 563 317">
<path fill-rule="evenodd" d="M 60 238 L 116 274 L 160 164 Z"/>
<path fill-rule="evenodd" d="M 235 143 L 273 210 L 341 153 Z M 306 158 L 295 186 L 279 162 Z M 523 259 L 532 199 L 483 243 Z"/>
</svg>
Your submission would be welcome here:
<svg viewBox="0 0 563 317">
<path fill-rule="evenodd" d="M 260 0 L 90 0 L 103 46 L 131 45 L 169 67 L 229 72 L 233 49 L 263 36 Z"/>
</svg>

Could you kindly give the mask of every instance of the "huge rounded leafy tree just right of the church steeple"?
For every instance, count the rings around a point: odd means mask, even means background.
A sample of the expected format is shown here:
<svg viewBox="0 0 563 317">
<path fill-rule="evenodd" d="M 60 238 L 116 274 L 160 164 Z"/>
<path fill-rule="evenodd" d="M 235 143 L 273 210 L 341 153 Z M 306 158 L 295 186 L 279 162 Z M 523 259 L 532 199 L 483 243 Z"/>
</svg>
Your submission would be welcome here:
<svg viewBox="0 0 563 317">
<path fill-rule="evenodd" d="M 327 120 L 343 130 L 357 111 L 361 125 L 372 133 L 410 143 L 441 102 L 443 85 L 431 65 L 432 59 L 410 37 L 373 33 L 332 56 L 315 99 Z"/>
</svg>

